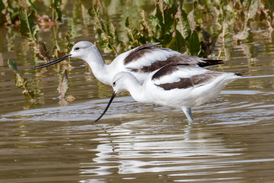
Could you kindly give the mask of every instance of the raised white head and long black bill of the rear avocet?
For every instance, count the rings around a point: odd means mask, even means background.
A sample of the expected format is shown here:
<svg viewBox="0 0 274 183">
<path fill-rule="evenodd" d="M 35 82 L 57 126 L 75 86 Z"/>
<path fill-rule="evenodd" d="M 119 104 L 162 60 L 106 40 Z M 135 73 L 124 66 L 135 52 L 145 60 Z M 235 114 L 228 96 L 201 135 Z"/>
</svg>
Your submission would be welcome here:
<svg viewBox="0 0 274 183">
<path fill-rule="evenodd" d="M 47 67 L 50 65 L 53 65 L 55 63 L 61 62 L 62 60 L 68 59 L 68 58 L 76 58 L 76 59 L 84 59 L 86 57 L 87 53 L 92 53 L 92 52 L 98 52 L 98 49 L 96 46 L 94 46 L 91 42 L 89 41 L 80 41 L 76 43 L 71 52 L 69 52 L 67 55 L 62 56 L 50 63 L 46 63 L 44 65 L 36 66 L 31 69 L 39 69 L 43 67 Z"/>
</svg>

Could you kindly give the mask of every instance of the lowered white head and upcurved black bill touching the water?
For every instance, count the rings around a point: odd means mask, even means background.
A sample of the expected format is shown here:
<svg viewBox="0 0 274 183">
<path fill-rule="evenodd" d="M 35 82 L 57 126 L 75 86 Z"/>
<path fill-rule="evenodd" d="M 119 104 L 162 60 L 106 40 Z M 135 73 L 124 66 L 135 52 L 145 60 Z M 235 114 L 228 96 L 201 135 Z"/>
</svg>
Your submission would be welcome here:
<svg viewBox="0 0 274 183">
<path fill-rule="evenodd" d="M 138 80 L 135 78 L 135 76 L 133 76 L 133 74 L 129 73 L 129 72 L 119 72 L 118 74 L 116 74 L 113 79 L 112 79 L 112 88 L 113 88 L 113 93 L 111 96 L 111 99 L 109 100 L 106 109 L 104 110 L 104 112 L 102 113 L 102 115 L 95 120 L 92 124 L 96 123 L 96 121 L 100 120 L 101 117 L 104 116 L 104 114 L 107 112 L 108 107 L 110 106 L 112 100 L 114 99 L 115 95 L 125 91 L 127 88 L 127 84 L 130 84 L 132 82 L 138 82 Z"/>
</svg>

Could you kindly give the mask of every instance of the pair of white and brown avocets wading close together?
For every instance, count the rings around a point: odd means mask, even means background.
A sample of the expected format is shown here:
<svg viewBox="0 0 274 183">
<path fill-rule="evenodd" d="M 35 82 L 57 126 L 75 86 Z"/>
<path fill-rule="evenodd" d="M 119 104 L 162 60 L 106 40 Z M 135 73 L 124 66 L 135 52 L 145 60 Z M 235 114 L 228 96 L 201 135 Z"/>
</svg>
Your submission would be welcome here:
<svg viewBox="0 0 274 183">
<path fill-rule="evenodd" d="M 67 55 L 33 69 L 68 58 L 86 61 L 94 76 L 114 89 L 106 109 L 93 124 L 105 114 L 115 95 L 125 90 L 137 102 L 182 109 L 191 123 L 191 107 L 216 98 L 227 84 L 244 73 L 207 70 L 202 67 L 222 64 L 223 60 L 183 55 L 159 46 L 159 43 L 139 46 L 122 53 L 106 65 L 96 46 L 88 41 L 80 41 Z"/>
</svg>

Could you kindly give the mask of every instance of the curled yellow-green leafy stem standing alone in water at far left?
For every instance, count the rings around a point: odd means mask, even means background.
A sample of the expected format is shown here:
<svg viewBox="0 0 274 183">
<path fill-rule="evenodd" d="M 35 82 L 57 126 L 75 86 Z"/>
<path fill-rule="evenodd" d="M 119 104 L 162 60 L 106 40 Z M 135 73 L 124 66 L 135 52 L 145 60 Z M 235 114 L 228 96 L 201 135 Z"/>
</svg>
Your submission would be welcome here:
<svg viewBox="0 0 274 183">
<path fill-rule="evenodd" d="M 12 61 L 11 59 L 8 59 L 8 65 L 9 68 L 12 69 L 12 71 L 14 72 L 14 81 L 15 81 L 15 85 L 18 88 L 22 88 L 22 94 L 24 96 L 29 96 L 32 100 L 32 102 L 34 102 L 34 91 L 29 90 L 29 88 L 27 87 L 27 81 L 28 79 L 26 77 L 22 77 L 21 74 L 19 74 L 18 70 L 17 70 L 17 64 L 16 62 Z"/>
</svg>

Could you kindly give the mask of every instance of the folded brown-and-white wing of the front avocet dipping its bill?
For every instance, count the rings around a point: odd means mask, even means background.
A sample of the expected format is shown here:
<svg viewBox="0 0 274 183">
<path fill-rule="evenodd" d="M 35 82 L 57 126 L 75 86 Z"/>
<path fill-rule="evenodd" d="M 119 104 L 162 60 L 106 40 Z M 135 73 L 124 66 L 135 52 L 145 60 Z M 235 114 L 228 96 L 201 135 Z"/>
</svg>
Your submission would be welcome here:
<svg viewBox="0 0 274 183">
<path fill-rule="evenodd" d="M 241 73 L 234 74 L 241 75 Z M 222 74 L 227 73 L 210 71 L 191 62 L 179 61 L 163 66 L 153 74 L 151 81 L 164 90 L 197 88 L 214 82 Z"/>
</svg>

